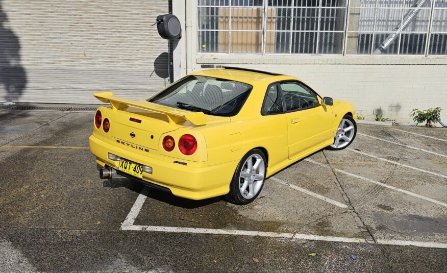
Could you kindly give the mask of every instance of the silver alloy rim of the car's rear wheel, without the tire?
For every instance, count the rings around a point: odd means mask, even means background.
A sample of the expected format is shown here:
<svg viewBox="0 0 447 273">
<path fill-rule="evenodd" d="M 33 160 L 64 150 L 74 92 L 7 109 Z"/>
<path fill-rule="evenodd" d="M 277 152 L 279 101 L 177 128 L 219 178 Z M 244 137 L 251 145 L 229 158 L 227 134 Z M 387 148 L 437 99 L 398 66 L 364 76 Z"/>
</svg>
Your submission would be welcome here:
<svg viewBox="0 0 447 273">
<path fill-rule="evenodd" d="M 265 163 L 258 154 L 253 154 L 244 162 L 239 177 L 239 190 L 246 199 L 251 199 L 264 183 Z"/>
</svg>

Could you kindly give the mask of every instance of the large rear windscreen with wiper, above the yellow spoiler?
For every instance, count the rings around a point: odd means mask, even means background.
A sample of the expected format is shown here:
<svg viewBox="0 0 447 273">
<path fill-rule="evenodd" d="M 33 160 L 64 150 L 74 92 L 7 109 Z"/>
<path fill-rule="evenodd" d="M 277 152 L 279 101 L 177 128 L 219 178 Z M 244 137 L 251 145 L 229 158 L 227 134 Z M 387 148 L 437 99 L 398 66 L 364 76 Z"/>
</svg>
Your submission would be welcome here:
<svg viewBox="0 0 447 273">
<path fill-rule="evenodd" d="M 217 116 L 236 115 L 252 86 L 204 76 L 187 76 L 167 87 L 154 97 L 151 103 Z"/>
</svg>

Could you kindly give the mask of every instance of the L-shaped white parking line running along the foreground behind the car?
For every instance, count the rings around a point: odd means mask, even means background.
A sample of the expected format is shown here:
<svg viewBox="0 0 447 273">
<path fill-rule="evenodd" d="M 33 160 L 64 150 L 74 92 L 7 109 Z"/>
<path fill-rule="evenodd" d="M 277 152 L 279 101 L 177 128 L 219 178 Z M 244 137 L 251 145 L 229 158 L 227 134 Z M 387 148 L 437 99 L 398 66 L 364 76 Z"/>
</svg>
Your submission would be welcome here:
<svg viewBox="0 0 447 273">
<path fill-rule="evenodd" d="M 236 235 L 236 236 L 258 236 L 258 237 L 273 237 L 273 238 L 287 238 L 287 239 L 305 239 L 313 241 L 329 241 L 329 242 L 346 242 L 346 243 L 367 243 L 363 238 L 350 237 L 336 237 L 336 236 L 320 236 L 311 234 L 296 234 L 296 233 L 281 233 L 281 232 L 264 232 L 264 231 L 250 231 L 250 230 L 227 230 L 227 229 L 202 229 L 202 228 L 182 228 L 182 227 L 159 227 L 159 226 L 140 226 L 134 225 L 135 219 L 138 216 L 144 201 L 147 198 L 149 189 L 143 187 L 141 193 L 138 195 L 132 209 L 122 222 L 121 230 L 123 231 L 153 231 L 153 232 L 167 232 L 167 233 L 193 233 L 193 234 L 215 234 L 215 235 Z M 447 244 L 437 242 L 418 242 L 418 241 L 399 241 L 399 240 L 379 240 L 379 244 L 391 245 L 416 245 L 420 247 L 437 247 L 440 249 L 447 249 Z"/>
</svg>

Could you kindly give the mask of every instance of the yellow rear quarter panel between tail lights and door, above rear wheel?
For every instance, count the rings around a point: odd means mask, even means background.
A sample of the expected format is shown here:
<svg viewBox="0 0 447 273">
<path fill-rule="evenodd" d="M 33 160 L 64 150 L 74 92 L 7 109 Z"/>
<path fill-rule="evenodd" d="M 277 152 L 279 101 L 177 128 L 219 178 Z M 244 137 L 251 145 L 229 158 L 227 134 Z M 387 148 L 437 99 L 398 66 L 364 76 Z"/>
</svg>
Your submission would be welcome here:
<svg viewBox="0 0 447 273">
<path fill-rule="evenodd" d="M 256 147 L 267 151 L 268 166 L 276 165 L 287 158 L 285 115 L 261 115 L 261 106 L 269 83 L 253 84 L 249 98 L 239 114 L 231 117 L 231 122 L 201 129 L 207 142 L 209 165 L 239 162 L 247 152 Z"/>
</svg>

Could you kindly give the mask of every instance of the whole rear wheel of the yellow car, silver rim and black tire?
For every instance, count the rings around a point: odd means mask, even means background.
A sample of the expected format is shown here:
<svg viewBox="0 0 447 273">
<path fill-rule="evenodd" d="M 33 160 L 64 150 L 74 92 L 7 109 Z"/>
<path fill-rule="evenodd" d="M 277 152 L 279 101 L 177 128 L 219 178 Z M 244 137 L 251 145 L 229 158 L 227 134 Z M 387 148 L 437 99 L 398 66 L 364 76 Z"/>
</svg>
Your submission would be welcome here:
<svg viewBox="0 0 447 273">
<path fill-rule="evenodd" d="M 264 186 L 266 168 L 267 161 L 261 150 L 247 153 L 236 167 L 227 199 L 239 205 L 255 200 Z"/>
</svg>

